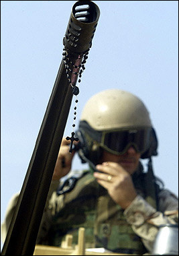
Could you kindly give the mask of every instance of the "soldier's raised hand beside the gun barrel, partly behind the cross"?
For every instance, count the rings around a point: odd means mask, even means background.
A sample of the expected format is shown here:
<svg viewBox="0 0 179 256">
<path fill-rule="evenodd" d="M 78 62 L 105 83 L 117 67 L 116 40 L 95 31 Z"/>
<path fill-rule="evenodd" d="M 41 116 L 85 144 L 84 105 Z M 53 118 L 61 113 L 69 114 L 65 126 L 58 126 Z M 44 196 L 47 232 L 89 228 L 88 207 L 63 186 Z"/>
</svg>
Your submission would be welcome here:
<svg viewBox="0 0 179 256">
<path fill-rule="evenodd" d="M 76 141 L 74 141 L 76 143 Z M 54 174 L 52 180 L 59 180 L 62 177 L 66 176 L 70 172 L 72 167 L 72 158 L 74 157 L 75 151 L 72 150 L 72 153 L 69 152 L 70 141 L 66 140 L 64 137 L 60 146 L 58 153 L 58 158 L 56 160 L 56 166 L 54 168 Z"/>
</svg>

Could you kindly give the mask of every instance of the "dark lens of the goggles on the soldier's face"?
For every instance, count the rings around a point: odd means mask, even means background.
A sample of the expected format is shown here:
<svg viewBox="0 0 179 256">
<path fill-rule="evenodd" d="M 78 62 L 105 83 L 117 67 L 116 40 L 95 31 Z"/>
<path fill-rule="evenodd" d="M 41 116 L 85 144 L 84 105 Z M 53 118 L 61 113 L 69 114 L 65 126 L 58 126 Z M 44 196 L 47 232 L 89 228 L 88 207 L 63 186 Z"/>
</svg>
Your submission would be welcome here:
<svg viewBox="0 0 179 256">
<path fill-rule="evenodd" d="M 143 153 L 150 146 L 151 129 L 133 129 L 106 133 L 103 144 L 113 152 L 121 153 L 127 146 L 133 145 L 137 152 Z"/>
</svg>

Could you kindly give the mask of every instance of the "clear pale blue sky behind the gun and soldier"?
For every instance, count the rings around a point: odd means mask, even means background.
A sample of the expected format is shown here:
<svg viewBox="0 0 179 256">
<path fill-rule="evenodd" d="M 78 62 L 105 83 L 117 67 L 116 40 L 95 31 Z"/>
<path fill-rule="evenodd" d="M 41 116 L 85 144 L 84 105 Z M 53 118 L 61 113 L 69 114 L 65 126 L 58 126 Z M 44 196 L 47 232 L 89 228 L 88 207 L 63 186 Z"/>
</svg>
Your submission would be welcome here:
<svg viewBox="0 0 179 256">
<path fill-rule="evenodd" d="M 178 195 L 178 1 L 94 2 L 101 14 L 80 82 L 76 126 L 97 92 L 119 88 L 141 98 L 158 137 L 154 173 Z M 1 1 L 1 222 L 21 190 L 74 3 Z M 73 107 L 74 100 L 64 137 L 72 132 Z M 82 168 L 75 156 L 73 170 Z"/>
</svg>

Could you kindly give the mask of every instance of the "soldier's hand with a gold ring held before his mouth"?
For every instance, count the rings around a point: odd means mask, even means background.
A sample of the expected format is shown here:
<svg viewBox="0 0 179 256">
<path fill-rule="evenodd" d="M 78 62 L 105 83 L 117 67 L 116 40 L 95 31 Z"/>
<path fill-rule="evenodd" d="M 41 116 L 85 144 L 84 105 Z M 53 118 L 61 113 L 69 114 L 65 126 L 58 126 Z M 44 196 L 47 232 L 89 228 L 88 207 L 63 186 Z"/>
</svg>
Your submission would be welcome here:
<svg viewBox="0 0 179 256">
<path fill-rule="evenodd" d="M 96 167 L 100 171 L 94 172 L 97 182 L 107 189 L 116 203 L 127 208 L 137 196 L 130 174 L 116 162 L 103 162 Z"/>
</svg>

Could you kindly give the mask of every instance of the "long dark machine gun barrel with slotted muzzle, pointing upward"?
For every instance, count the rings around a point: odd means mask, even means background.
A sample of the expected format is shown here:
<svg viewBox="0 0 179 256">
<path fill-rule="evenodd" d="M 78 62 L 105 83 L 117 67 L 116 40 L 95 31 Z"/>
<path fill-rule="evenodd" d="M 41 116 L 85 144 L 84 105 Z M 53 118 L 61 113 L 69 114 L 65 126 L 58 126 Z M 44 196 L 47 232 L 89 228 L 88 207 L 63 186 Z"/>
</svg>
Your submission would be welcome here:
<svg viewBox="0 0 179 256">
<path fill-rule="evenodd" d="M 63 40 L 72 63 L 78 63 L 79 55 L 91 48 L 99 13 L 92 1 L 78 1 L 72 7 Z M 77 77 L 78 74 L 72 74 L 73 86 Z M 34 253 L 72 96 L 62 60 L 1 255 Z"/>
</svg>

